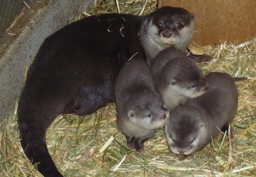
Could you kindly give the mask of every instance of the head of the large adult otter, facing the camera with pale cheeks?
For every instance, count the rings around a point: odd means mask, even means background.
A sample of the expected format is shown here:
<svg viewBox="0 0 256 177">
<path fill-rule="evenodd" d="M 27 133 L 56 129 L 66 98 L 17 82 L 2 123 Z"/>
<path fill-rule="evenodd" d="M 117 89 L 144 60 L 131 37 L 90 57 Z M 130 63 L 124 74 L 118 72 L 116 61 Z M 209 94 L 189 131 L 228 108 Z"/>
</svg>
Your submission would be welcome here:
<svg viewBox="0 0 256 177">
<path fill-rule="evenodd" d="M 163 7 L 151 14 L 149 36 L 164 48 L 185 51 L 194 34 L 194 14 L 183 8 Z"/>
</svg>

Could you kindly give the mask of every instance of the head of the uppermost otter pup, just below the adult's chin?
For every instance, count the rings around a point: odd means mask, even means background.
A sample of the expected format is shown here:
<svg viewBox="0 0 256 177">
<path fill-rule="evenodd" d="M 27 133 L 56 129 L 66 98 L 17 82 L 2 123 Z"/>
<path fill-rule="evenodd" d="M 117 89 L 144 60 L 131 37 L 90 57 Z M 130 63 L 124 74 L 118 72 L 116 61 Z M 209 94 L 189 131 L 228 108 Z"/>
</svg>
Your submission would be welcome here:
<svg viewBox="0 0 256 177">
<path fill-rule="evenodd" d="M 164 76 L 172 93 L 194 98 L 202 95 L 208 89 L 203 72 L 189 58 L 177 57 L 170 60 L 165 67 Z"/>
</svg>

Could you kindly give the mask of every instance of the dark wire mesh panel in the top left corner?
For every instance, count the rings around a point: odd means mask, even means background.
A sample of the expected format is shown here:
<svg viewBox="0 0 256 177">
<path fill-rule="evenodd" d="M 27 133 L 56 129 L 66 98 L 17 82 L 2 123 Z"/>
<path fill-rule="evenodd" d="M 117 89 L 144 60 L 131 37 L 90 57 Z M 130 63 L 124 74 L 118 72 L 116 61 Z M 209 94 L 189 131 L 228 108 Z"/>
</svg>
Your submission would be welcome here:
<svg viewBox="0 0 256 177">
<path fill-rule="evenodd" d="M 10 27 L 13 20 L 31 0 L 0 0 L 0 36 Z"/>
</svg>

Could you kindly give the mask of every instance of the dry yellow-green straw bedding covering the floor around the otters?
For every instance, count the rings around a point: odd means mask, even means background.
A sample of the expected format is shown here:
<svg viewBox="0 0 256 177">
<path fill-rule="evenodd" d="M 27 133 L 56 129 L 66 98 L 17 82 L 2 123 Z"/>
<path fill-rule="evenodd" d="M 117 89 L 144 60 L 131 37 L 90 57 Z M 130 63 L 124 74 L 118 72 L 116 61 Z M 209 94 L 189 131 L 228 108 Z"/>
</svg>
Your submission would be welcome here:
<svg viewBox="0 0 256 177">
<path fill-rule="evenodd" d="M 136 0 L 119 3 L 121 13 L 140 14 L 143 3 Z M 115 1 L 85 14 L 117 12 Z M 148 1 L 143 12 L 156 9 Z M 84 16 L 82 14 L 79 18 Z M 239 103 L 232 127 L 237 135 L 231 141 L 216 135 L 211 145 L 185 161 L 166 154 L 168 146 L 164 129 L 144 143 L 144 152 L 137 153 L 126 145 L 126 138 L 117 130 L 114 104 L 87 116 L 60 115 L 49 127 L 48 149 L 64 176 L 256 176 L 256 38 L 243 44 L 193 47 L 195 54 L 210 54 L 211 62 L 199 64 L 205 73 L 220 71 L 236 77 L 250 77 L 237 82 Z M 24 155 L 18 138 L 17 101 L 0 124 L 0 176 L 40 176 Z"/>
</svg>

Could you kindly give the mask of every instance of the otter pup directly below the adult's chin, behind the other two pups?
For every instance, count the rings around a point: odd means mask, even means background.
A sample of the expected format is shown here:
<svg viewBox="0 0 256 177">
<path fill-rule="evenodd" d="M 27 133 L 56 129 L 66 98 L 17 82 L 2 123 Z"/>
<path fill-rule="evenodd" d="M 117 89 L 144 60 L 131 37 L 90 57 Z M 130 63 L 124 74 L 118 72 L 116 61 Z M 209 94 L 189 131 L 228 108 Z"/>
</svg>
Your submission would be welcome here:
<svg viewBox="0 0 256 177">
<path fill-rule="evenodd" d="M 200 68 L 184 52 L 175 48 L 159 52 L 151 69 L 156 90 L 169 111 L 208 89 Z"/>
</svg>

